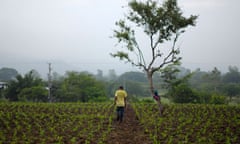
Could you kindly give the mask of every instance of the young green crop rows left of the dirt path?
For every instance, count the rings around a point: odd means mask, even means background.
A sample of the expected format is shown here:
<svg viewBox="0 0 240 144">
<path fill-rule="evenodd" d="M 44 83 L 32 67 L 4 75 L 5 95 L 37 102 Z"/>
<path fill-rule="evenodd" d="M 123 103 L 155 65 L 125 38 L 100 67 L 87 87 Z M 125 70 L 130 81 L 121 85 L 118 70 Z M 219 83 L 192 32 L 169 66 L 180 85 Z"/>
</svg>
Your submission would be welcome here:
<svg viewBox="0 0 240 144">
<path fill-rule="evenodd" d="M 104 143 L 110 103 L 0 103 L 0 143 Z"/>
</svg>

